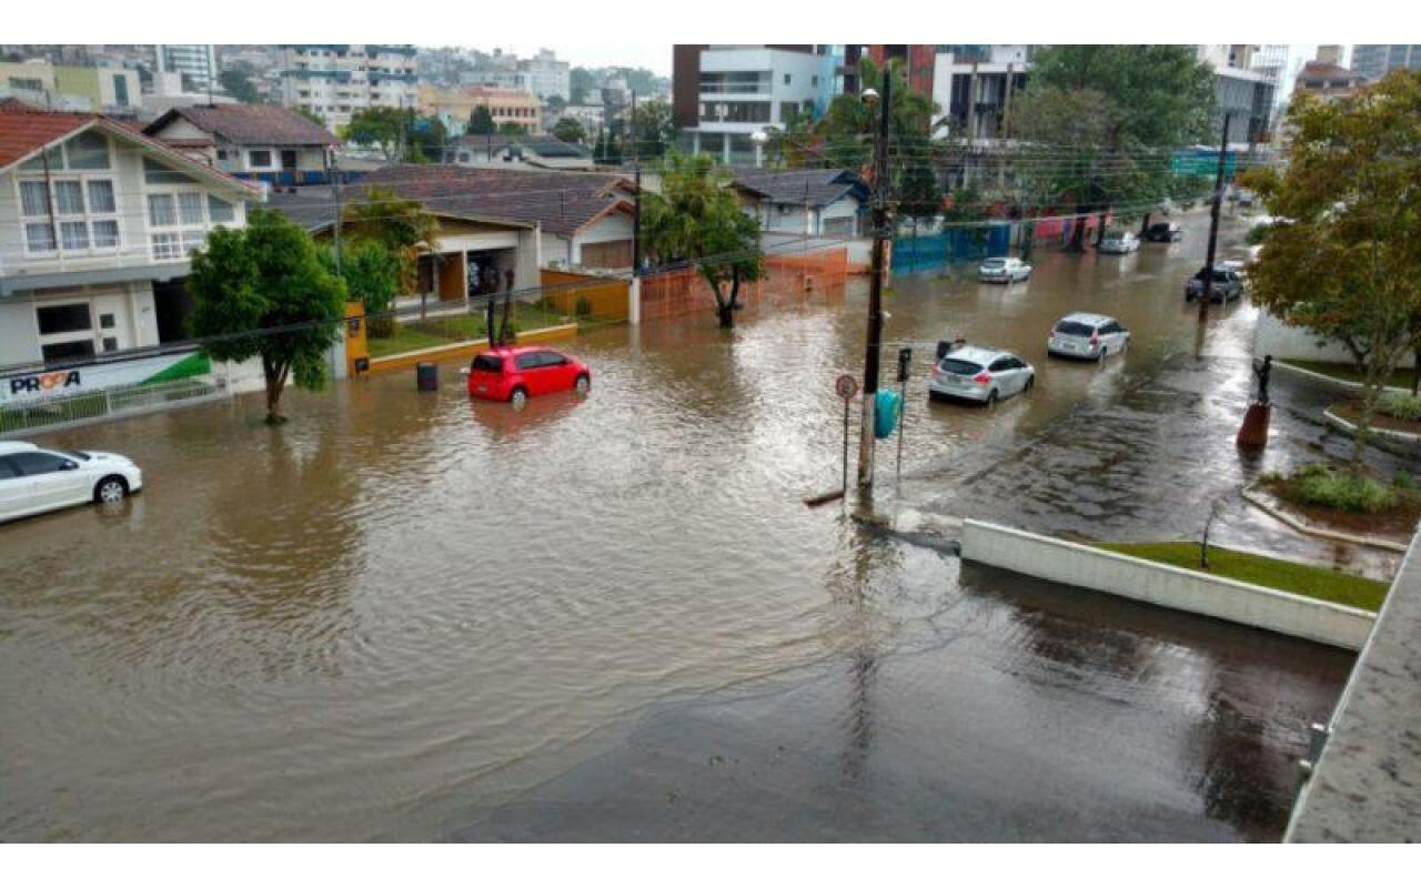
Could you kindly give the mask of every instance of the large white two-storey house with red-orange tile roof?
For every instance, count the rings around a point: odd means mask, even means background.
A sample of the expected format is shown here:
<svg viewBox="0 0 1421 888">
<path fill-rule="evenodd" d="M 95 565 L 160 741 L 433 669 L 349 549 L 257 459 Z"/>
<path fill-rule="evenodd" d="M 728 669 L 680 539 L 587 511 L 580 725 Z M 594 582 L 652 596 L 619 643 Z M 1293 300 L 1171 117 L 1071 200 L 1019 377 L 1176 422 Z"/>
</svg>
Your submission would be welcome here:
<svg viewBox="0 0 1421 888">
<path fill-rule="evenodd" d="M 186 340 L 189 253 L 259 199 L 109 118 L 0 102 L 0 405 L 37 371 Z"/>
</svg>

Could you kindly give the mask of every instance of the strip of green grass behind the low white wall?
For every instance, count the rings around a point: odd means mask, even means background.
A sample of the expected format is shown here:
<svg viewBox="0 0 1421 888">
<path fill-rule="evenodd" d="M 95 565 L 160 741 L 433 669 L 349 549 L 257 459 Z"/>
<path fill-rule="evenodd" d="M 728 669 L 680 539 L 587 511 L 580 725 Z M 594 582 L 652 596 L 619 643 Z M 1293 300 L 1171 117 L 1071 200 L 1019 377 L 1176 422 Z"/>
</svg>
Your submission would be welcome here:
<svg viewBox="0 0 1421 888">
<path fill-rule="evenodd" d="M 1268 558 L 1221 546 L 1209 546 L 1208 571 L 1199 568 L 1198 543 L 1097 543 L 1096 547 L 1364 611 L 1380 610 L 1383 598 L 1387 597 L 1388 584 L 1378 580 L 1367 580 L 1312 564 Z"/>
</svg>

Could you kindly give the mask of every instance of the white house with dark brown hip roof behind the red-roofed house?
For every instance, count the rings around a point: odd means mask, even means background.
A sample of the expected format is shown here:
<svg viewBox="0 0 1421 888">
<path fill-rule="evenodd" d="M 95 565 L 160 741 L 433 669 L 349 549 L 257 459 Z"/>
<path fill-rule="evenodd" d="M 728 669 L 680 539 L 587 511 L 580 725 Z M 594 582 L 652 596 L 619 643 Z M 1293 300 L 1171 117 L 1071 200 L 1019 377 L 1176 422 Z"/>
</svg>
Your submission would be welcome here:
<svg viewBox="0 0 1421 888">
<path fill-rule="evenodd" d="M 276 105 L 189 105 L 144 128 L 161 142 L 239 179 L 271 185 L 330 182 L 341 144 L 324 126 Z"/>
</svg>

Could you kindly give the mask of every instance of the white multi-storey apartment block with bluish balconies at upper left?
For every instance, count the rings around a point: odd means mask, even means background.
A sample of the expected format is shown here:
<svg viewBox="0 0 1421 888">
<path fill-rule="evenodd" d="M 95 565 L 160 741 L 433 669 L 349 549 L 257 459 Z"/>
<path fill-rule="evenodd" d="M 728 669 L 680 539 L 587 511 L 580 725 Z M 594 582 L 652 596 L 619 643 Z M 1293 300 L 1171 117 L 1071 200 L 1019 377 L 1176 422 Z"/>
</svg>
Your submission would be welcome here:
<svg viewBox="0 0 1421 888">
<path fill-rule="evenodd" d="M 414 45 L 290 44 L 281 50 L 281 104 L 321 115 L 333 132 L 365 108 L 416 105 Z"/>
</svg>

